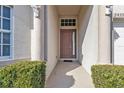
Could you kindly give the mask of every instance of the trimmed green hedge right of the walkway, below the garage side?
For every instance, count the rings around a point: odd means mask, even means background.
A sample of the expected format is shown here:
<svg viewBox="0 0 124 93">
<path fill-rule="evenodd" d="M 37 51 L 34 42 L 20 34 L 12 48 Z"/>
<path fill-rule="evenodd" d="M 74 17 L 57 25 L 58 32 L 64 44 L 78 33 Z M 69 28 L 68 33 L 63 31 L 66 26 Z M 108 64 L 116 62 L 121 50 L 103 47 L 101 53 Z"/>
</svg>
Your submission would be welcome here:
<svg viewBox="0 0 124 93">
<path fill-rule="evenodd" d="M 93 65 L 91 71 L 96 88 L 124 88 L 124 66 Z"/>
</svg>

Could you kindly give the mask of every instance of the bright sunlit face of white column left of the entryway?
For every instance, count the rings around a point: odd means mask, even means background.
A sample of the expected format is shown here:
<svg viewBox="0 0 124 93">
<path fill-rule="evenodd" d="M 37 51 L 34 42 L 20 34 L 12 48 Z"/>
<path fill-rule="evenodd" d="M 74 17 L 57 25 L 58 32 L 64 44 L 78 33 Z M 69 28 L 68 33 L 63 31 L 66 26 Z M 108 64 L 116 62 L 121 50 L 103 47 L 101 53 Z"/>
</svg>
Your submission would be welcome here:
<svg viewBox="0 0 124 93">
<path fill-rule="evenodd" d="M 41 20 L 40 6 L 33 8 L 33 30 L 31 32 L 31 60 L 41 60 Z"/>
</svg>

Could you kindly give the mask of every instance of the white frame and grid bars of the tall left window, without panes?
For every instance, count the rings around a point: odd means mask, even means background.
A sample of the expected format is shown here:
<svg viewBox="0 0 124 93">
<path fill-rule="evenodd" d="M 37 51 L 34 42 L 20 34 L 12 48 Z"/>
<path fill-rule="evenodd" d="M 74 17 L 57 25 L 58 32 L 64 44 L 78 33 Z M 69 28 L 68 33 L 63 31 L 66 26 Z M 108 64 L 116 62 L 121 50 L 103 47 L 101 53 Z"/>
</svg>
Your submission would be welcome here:
<svg viewBox="0 0 124 93">
<path fill-rule="evenodd" d="M 1 15 L 3 14 L 3 6 L 10 8 L 10 18 L 6 18 L 6 17 L 1 16 L 1 28 L 0 28 L 0 30 L 2 30 L 2 32 L 10 33 L 10 44 L 3 44 L 1 42 L 1 45 L 10 45 L 10 55 L 9 56 L 0 56 L 0 61 L 8 61 L 8 60 L 13 59 L 13 7 L 7 6 L 7 5 L 1 5 Z M 10 30 L 2 29 L 2 25 L 3 25 L 2 18 L 10 20 Z M 1 39 L 3 39 L 3 37 L 1 37 Z M 1 49 L 1 54 L 2 53 L 3 53 L 3 50 Z"/>
</svg>

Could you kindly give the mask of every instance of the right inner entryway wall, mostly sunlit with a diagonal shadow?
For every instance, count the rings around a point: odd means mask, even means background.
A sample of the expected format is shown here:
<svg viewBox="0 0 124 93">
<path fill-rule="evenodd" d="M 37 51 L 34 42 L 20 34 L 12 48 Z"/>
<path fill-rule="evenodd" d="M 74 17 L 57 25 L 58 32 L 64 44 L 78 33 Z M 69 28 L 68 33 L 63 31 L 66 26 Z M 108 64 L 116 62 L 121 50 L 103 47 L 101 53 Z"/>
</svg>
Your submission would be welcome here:
<svg viewBox="0 0 124 93">
<path fill-rule="evenodd" d="M 79 14 L 79 62 L 90 74 L 98 60 L 98 6 L 82 7 Z"/>
</svg>

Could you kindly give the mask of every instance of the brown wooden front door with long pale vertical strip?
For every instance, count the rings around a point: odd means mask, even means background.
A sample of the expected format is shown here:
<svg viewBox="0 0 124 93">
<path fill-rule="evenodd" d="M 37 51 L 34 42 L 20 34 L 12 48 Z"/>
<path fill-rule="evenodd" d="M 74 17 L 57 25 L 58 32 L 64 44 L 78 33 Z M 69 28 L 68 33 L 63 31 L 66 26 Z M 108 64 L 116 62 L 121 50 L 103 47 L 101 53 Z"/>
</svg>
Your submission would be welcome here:
<svg viewBox="0 0 124 93">
<path fill-rule="evenodd" d="M 75 57 L 76 57 L 76 31 L 75 29 L 61 29 L 60 58 Z"/>
</svg>

